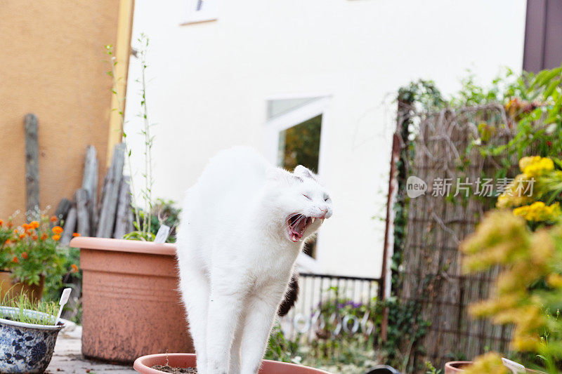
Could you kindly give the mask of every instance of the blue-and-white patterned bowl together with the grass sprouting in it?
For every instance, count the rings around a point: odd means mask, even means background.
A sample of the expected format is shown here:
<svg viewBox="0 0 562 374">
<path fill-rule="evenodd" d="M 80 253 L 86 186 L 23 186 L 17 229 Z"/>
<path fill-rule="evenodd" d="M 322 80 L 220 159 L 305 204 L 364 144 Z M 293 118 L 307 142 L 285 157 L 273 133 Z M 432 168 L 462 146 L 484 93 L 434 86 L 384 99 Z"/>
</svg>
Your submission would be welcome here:
<svg viewBox="0 0 562 374">
<path fill-rule="evenodd" d="M 0 302 L 0 373 L 43 373 L 58 332 L 54 302 L 32 302 L 25 293 Z"/>
</svg>

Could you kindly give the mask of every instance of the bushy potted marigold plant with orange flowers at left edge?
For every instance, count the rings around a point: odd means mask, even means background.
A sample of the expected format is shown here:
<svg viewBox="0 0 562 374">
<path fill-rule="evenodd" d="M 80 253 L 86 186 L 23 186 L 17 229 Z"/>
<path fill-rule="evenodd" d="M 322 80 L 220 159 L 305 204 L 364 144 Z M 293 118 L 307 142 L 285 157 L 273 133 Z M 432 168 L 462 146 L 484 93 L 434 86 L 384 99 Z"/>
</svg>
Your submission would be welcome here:
<svg viewBox="0 0 562 374">
<path fill-rule="evenodd" d="M 11 230 L 0 229 L 0 297 L 10 298 L 23 292 L 32 302 L 41 300 L 46 276 L 63 275 L 63 253 L 58 243 L 62 227 L 54 226 L 57 218 L 40 215 L 38 220 L 24 223 Z M 11 223 L 11 221 L 8 221 Z M 9 233 L 7 230 L 9 229 Z"/>
</svg>

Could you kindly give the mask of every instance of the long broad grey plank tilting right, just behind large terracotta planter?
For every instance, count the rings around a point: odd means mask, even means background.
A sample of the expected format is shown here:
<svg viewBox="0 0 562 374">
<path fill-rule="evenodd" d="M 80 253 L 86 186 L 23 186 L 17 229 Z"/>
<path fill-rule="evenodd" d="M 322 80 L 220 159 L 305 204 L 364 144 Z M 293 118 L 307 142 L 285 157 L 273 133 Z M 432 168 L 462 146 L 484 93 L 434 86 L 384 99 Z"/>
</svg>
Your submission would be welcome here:
<svg viewBox="0 0 562 374">
<path fill-rule="evenodd" d="M 115 212 L 117 211 L 117 199 L 119 187 L 123 177 L 123 165 L 125 161 L 125 145 L 119 143 L 113 149 L 111 166 L 107 171 L 107 183 L 104 189 L 103 201 L 100 208 L 100 220 L 96 236 L 110 238 L 113 235 L 115 225 Z"/>
</svg>

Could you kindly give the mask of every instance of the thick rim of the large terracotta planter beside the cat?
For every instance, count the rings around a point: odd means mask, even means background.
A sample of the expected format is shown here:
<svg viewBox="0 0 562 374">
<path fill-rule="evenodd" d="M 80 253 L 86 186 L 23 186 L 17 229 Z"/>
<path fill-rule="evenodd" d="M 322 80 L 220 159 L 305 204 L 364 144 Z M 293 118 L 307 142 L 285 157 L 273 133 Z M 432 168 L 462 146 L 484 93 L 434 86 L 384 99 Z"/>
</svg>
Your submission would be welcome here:
<svg viewBox="0 0 562 374">
<path fill-rule="evenodd" d="M 172 243 L 155 243 L 129 239 L 94 238 L 78 236 L 69 244 L 73 248 L 96 249 L 98 251 L 117 251 L 129 253 L 148 253 L 151 255 L 176 255 L 176 246 Z"/>
</svg>

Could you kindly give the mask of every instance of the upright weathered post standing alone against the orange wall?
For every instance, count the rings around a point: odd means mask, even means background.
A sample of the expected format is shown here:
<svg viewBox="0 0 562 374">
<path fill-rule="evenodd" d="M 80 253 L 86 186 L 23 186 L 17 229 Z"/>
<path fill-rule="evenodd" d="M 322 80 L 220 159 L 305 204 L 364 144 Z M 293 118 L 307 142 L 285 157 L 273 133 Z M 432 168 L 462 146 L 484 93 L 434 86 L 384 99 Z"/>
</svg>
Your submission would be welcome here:
<svg viewBox="0 0 562 374">
<path fill-rule="evenodd" d="M 25 128 L 25 211 L 28 219 L 39 215 L 39 125 L 35 114 L 26 114 Z"/>
</svg>

